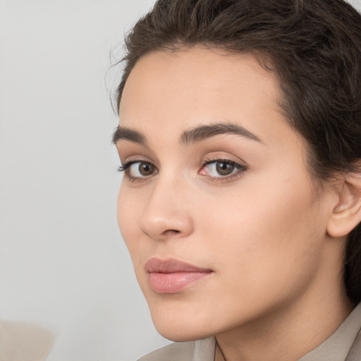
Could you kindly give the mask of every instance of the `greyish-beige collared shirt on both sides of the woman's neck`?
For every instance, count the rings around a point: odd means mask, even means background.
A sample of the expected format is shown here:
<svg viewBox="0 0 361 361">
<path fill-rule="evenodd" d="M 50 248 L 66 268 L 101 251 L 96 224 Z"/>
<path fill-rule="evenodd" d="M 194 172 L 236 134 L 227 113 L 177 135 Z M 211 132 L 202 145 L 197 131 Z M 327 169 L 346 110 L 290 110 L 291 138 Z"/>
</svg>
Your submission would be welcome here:
<svg viewBox="0 0 361 361">
<path fill-rule="evenodd" d="M 334 334 L 298 361 L 344 361 L 361 329 L 361 303 L 348 315 Z M 214 361 L 216 339 L 176 342 L 140 358 L 138 361 Z M 361 355 L 360 355 L 361 360 Z"/>
</svg>

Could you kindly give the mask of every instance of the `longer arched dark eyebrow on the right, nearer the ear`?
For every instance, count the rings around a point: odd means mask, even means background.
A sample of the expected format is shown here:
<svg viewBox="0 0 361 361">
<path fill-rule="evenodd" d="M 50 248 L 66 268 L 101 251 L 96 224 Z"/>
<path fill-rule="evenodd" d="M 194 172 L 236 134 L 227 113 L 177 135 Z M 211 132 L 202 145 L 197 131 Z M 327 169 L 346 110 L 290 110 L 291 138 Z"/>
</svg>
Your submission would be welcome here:
<svg viewBox="0 0 361 361">
<path fill-rule="evenodd" d="M 185 130 L 181 135 L 181 144 L 189 145 L 190 143 L 201 142 L 202 140 L 221 134 L 241 135 L 262 143 L 262 140 L 260 140 L 257 135 L 251 133 L 250 130 L 247 130 L 243 126 L 238 126 L 233 123 L 216 123 Z"/>
</svg>

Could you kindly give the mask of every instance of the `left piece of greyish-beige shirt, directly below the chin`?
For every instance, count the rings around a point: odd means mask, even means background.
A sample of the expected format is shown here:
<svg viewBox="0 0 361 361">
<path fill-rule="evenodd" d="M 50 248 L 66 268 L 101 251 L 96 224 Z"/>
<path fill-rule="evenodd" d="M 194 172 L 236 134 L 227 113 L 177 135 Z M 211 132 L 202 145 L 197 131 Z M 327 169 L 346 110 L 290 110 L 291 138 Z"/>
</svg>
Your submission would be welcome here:
<svg viewBox="0 0 361 361">
<path fill-rule="evenodd" d="M 138 361 L 211 361 L 214 356 L 214 338 L 200 341 L 176 342 L 141 357 Z"/>
</svg>

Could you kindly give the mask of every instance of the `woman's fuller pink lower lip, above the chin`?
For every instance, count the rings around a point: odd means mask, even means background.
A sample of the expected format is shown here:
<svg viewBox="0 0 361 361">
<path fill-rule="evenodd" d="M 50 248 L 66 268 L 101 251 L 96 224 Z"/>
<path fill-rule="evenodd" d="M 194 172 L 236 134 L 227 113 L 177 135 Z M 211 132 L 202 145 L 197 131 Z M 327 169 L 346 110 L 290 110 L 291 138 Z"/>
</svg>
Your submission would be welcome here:
<svg viewBox="0 0 361 361">
<path fill-rule="evenodd" d="M 178 293 L 190 284 L 204 279 L 211 272 L 173 272 L 163 274 L 152 272 L 149 274 L 149 284 L 157 293 Z"/>
</svg>

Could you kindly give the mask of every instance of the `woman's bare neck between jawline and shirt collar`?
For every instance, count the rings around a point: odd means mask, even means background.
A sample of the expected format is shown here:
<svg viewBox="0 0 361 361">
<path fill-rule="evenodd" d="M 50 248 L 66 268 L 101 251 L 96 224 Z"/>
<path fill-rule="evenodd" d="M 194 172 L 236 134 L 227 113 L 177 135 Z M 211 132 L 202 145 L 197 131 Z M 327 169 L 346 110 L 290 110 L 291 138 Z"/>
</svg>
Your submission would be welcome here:
<svg viewBox="0 0 361 361">
<path fill-rule="evenodd" d="M 215 360 L 298 360 L 331 336 L 354 307 L 344 293 L 312 301 L 283 305 L 257 321 L 218 334 Z"/>
</svg>

